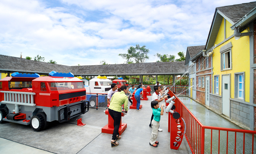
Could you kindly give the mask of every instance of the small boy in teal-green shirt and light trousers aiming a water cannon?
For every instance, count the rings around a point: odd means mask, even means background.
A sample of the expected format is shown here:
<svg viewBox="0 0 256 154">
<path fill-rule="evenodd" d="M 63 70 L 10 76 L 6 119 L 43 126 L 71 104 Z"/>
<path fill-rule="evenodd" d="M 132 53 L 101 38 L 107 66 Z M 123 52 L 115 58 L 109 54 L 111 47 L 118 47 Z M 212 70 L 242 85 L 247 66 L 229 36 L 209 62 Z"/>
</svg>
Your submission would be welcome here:
<svg viewBox="0 0 256 154">
<path fill-rule="evenodd" d="M 151 107 L 153 109 L 154 118 L 151 123 L 152 133 L 151 133 L 149 145 L 152 145 L 154 147 L 157 147 L 157 144 L 159 144 L 159 142 L 157 141 L 157 134 L 158 134 L 160 116 L 163 115 L 163 106 L 164 105 L 162 104 L 161 109 L 160 109 L 158 101 L 151 102 Z"/>
</svg>

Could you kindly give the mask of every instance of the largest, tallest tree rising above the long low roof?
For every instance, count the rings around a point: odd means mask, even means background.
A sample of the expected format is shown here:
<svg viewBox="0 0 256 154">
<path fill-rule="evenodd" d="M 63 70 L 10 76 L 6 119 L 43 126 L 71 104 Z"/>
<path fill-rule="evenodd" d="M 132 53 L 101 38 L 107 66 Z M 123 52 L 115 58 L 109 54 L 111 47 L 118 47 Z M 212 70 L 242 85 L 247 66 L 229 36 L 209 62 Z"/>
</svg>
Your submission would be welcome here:
<svg viewBox="0 0 256 154">
<path fill-rule="evenodd" d="M 139 45 L 136 45 L 134 48 L 131 46 L 128 48 L 128 53 L 120 53 L 118 56 L 121 56 L 123 59 L 126 59 L 127 64 L 133 63 L 133 60 L 135 60 L 135 63 L 145 63 L 149 57 L 147 56 L 149 49 L 145 48 L 146 46 L 139 47 Z M 132 60 L 133 59 L 133 60 Z"/>
</svg>

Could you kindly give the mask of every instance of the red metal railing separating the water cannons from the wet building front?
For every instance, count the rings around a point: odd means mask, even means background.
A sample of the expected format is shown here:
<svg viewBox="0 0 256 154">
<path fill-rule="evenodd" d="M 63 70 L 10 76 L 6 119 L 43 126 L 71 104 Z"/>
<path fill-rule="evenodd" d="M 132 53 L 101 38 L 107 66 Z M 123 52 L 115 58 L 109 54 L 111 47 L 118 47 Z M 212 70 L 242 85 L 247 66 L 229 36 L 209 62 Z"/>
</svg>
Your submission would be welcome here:
<svg viewBox="0 0 256 154">
<path fill-rule="evenodd" d="M 170 96 L 175 96 L 175 94 L 169 90 Z M 205 136 L 206 130 L 211 131 L 211 141 L 210 141 L 210 149 L 208 148 L 206 153 L 220 153 L 220 145 L 221 140 L 220 137 L 225 138 L 224 135 L 220 135 L 221 131 L 226 132 L 226 153 L 234 150 L 234 153 L 236 154 L 237 146 L 240 146 L 243 148 L 243 154 L 245 153 L 245 145 L 248 148 L 248 146 L 245 144 L 245 133 L 248 135 L 250 134 L 252 136 L 252 143 L 251 143 L 251 149 L 247 149 L 247 152 L 254 153 L 254 134 L 256 134 L 256 131 L 251 130 L 242 130 L 242 129 L 232 129 L 232 128 L 222 128 L 222 127 L 214 127 L 214 126 L 204 126 L 190 111 L 189 109 L 180 101 L 180 99 L 177 97 L 175 100 L 175 106 L 176 110 L 181 114 L 181 118 L 184 119 L 186 123 L 186 130 L 185 130 L 185 138 L 189 144 L 189 147 L 191 149 L 191 152 L 193 154 L 204 154 L 205 153 Z M 169 114 L 170 116 L 170 114 Z M 169 124 L 170 125 L 170 124 Z M 213 148 L 213 137 L 216 137 L 215 134 L 213 134 L 213 130 L 218 130 L 218 147 Z M 170 132 L 170 130 L 168 130 Z M 234 132 L 234 136 L 232 136 L 231 133 L 228 132 Z M 239 141 L 237 142 L 237 133 L 243 133 L 243 142 Z M 231 136 L 230 136 L 231 135 Z M 231 138 L 232 141 L 230 141 L 228 138 Z M 232 145 L 230 143 L 233 142 L 234 139 L 234 149 L 231 149 Z M 248 139 L 248 138 L 247 138 Z M 223 142 L 222 142 L 223 143 Z M 223 146 L 223 145 L 221 145 Z M 228 148 L 231 146 L 230 148 Z M 222 148 L 223 149 L 223 148 Z M 214 151 L 213 151 L 214 150 Z"/>
</svg>

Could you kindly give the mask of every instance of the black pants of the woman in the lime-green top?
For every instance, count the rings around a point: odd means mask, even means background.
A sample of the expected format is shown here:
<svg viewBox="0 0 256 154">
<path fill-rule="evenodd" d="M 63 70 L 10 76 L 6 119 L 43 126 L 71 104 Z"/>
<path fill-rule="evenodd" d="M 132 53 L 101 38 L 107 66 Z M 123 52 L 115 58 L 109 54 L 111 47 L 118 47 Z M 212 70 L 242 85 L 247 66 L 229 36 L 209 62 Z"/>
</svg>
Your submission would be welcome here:
<svg viewBox="0 0 256 154">
<path fill-rule="evenodd" d="M 117 135 L 119 135 L 118 129 L 121 121 L 122 112 L 117 112 L 112 109 L 108 109 L 108 113 L 114 120 L 114 131 L 112 135 L 112 140 L 116 140 Z"/>
</svg>

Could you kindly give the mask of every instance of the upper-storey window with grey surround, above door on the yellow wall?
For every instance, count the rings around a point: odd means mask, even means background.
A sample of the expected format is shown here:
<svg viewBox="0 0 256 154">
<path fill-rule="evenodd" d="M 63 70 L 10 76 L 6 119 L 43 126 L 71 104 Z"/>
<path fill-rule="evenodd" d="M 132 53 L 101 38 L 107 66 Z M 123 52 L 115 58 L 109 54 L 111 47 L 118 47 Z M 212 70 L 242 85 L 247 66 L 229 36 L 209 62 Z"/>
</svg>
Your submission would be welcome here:
<svg viewBox="0 0 256 154">
<path fill-rule="evenodd" d="M 229 42 L 220 49 L 221 53 L 221 71 L 232 69 L 232 43 Z"/>
</svg>

